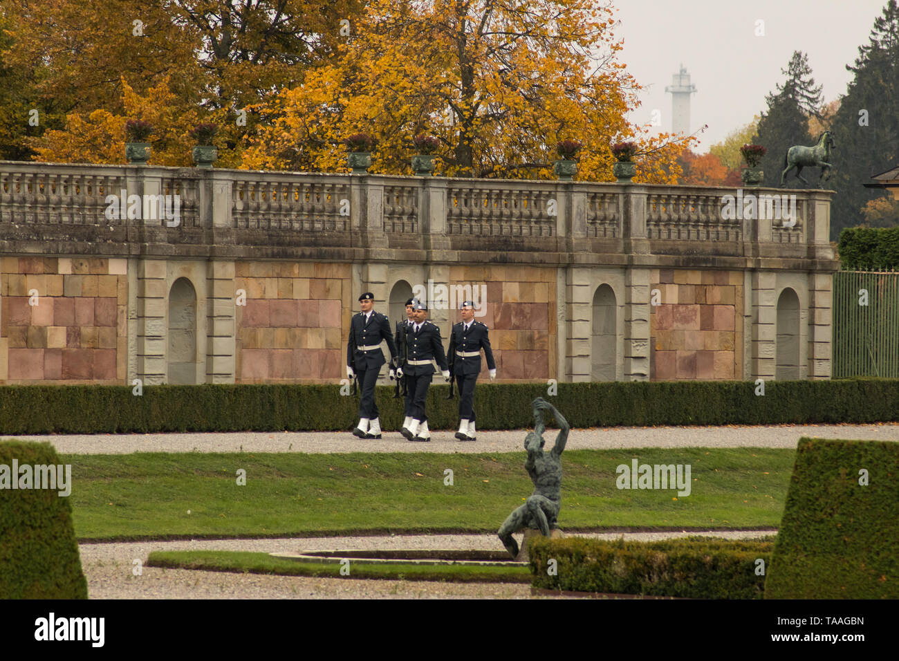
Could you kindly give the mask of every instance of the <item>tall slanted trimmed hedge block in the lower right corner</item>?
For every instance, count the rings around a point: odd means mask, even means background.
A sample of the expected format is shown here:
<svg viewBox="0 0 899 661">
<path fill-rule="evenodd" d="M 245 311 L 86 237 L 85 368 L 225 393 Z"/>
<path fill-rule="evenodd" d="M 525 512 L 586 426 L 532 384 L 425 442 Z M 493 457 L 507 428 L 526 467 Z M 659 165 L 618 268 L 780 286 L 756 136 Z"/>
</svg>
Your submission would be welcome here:
<svg viewBox="0 0 899 661">
<path fill-rule="evenodd" d="M 899 443 L 800 439 L 765 598 L 899 598 L 897 549 Z"/>
</svg>

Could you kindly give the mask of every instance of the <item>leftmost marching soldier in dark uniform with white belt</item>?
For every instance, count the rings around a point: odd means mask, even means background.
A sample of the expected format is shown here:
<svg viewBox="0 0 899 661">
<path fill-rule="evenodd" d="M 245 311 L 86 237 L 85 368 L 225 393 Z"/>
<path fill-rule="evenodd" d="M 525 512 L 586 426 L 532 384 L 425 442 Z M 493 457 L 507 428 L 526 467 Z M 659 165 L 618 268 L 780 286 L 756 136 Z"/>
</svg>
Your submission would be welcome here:
<svg viewBox="0 0 899 661">
<path fill-rule="evenodd" d="M 355 374 L 359 375 L 360 420 L 352 433 L 360 438 L 381 437 L 378 405 L 375 404 L 375 384 L 378 382 L 381 365 L 385 363 L 381 340 L 387 340 L 390 360 L 396 360 L 396 344 L 393 335 L 390 334 L 390 321 L 384 315 L 375 312 L 374 305 L 375 295 L 370 291 L 359 297 L 359 307 L 362 311 L 352 317 L 350 337 L 346 343 L 346 376 L 352 379 Z M 391 369 L 390 379 L 393 378 L 394 371 Z"/>
</svg>

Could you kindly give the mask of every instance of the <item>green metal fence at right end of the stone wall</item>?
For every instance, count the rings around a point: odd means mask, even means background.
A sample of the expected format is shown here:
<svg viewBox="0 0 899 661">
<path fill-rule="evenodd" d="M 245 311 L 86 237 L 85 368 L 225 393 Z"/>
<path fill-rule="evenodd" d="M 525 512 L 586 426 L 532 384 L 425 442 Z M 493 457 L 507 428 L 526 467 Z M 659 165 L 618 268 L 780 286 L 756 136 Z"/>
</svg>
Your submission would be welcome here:
<svg viewBox="0 0 899 661">
<path fill-rule="evenodd" d="M 832 378 L 899 379 L 899 272 L 833 274 Z"/>
</svg>

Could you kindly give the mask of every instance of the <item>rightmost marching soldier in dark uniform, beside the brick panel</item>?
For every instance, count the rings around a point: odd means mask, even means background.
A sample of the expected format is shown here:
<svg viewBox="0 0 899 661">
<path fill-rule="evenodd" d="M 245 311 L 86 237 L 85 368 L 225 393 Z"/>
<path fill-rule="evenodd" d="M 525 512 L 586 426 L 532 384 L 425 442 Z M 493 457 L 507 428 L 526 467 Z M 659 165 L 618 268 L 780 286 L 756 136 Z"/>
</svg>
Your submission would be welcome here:
<svg viewBox="0 0 899 661">
<path fill-rule="evenodd" d="M 490 380 L 496 378 L 494 353 L 490 349 L 490 338 L 487 326 L 475 321 L 475 304 L 466 300 L 459 306 L 462 321 L 452 327 L 449 332 L 449 351 L 447 359 L 453 368 L 453 377 L 458 386 L 458 432 L 459 441 L 474 441 L 475 409 L 472 401 L 475 397 L 475 383 L 481 371 L 481 349 L 487 358 L 487 370 Z"/>
</svg>

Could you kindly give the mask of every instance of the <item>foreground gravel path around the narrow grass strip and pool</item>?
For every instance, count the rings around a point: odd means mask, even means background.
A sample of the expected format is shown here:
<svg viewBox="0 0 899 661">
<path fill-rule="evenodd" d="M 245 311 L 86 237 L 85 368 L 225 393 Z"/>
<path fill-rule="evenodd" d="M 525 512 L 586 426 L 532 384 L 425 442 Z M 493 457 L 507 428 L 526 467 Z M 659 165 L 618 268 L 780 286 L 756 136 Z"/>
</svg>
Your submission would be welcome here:
<svg viewBox="0 0 899 661">
<path fill-rule="evenodd" d="M 775 531 L 588 533 L 613 540 L 662 540 L 687 535 L 754 539 Z M 579 535 L 582 536 L 582 535 Z M 153 550 L 273 551 L 327 549 L 499 549 L 494 535 L 390 535 L 269 540 L 133 541 L 81 544 L 81 563 L 92 599 L 530 599 L 529 585 L 454 584 L 427 581 L 357 580 L 265 576 L 142 567 Z"/>
</svg>

